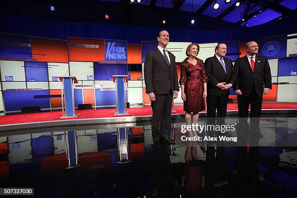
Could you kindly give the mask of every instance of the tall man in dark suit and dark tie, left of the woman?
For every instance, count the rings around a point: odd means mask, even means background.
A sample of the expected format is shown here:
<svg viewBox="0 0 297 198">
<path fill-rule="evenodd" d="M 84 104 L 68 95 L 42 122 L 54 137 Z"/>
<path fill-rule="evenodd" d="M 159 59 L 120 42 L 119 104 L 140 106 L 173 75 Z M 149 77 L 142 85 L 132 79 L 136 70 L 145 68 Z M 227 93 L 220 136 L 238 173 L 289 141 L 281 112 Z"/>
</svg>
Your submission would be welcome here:
<svg viewBox="0 0 297 198">
<path fill-rule="evenodd" d="M 153 110 L 151 131 L 154 147 L 161 148 L 160 141 L 175 144 L 175 141 L 168 137 L 168 129 L 172 98 L 173 95 L 174 99 L 178 97 L 179 83 L 175 56 L 166 50 L 169 43 L 169 33 L 166 30 L 160 31 L 157 40 L 158 47 L 146 55 L 144 77 L 146 93 Z"/>
</svg>

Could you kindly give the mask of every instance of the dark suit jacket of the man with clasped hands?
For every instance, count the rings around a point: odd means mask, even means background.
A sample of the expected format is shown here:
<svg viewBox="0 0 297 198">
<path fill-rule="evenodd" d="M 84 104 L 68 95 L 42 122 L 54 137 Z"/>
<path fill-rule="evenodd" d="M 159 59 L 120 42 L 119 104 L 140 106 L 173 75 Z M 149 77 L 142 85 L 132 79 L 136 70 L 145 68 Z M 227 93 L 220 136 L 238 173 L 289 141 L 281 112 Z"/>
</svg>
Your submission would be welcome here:
<svg viewBox="0 0 297 198">
<path fill-rule="evenodd" d="M 229 95 L 230 90 L 228 89 L 222 91 L 221 89 L 217 88 L 217 83 L 226 82 L 227 84 L 231 83 L 232 86 L 234 86 L 235 72 L 232 61 L 229 58 L 223 59 L 227 74 L 215 55 L 205 60 L 204 66 L 208 77 L 207 94 L 210 96 L 221 96 L 222 94 Z"/>
</svg>

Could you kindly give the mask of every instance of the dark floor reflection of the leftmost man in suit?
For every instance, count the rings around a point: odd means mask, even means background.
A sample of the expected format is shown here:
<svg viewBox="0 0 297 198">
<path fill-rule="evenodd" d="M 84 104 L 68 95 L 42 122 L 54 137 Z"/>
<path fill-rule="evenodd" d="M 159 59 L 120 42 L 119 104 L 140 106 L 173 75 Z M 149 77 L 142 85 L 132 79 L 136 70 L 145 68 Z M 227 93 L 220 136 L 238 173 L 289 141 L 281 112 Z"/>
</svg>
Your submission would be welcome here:
<svg viewBox="0 0 297 198">
<path fill-rule="evenodd" d="M 168 147 L 153 148 L 151 197 L 172 198 L 173 180 Z"/>
</svg>

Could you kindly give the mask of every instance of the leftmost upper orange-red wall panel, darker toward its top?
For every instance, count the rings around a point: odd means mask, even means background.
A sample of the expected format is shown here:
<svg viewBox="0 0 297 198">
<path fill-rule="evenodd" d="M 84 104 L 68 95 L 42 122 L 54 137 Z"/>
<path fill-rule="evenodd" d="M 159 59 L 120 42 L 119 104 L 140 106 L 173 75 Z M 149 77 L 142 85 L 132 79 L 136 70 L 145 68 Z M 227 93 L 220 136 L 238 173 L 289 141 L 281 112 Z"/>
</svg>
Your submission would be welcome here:
<svg viewBox="0 0 297 198">
<path fill-rule="evenodd" d="M 68 63 L 66 41 L 31 37 L 31 48 L 37 61 Z"/>
</svg>

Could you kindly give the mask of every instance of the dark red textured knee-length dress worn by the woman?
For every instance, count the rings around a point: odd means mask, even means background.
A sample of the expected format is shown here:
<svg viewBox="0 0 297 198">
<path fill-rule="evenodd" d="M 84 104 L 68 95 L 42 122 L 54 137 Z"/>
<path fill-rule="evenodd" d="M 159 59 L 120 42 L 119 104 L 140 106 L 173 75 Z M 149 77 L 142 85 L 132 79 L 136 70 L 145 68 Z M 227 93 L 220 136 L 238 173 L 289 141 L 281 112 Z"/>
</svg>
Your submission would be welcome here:
<svg viewBox="0 0 297 198">
<path fill-rule="evenodd" d="M 197 64 L 194 66 L 184 59 L 181 63 L 180 85 L 184 85 L 184 94 L 186 101 L 183 101 L 183 111 L 191 114 L 198 114 L 205 110 L 203 99 L 203 83 L 208 81 L 204 63 L 201 59 L 196 58 Z"/>
</svg>

